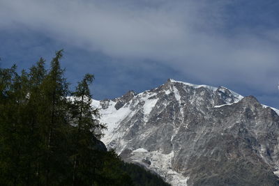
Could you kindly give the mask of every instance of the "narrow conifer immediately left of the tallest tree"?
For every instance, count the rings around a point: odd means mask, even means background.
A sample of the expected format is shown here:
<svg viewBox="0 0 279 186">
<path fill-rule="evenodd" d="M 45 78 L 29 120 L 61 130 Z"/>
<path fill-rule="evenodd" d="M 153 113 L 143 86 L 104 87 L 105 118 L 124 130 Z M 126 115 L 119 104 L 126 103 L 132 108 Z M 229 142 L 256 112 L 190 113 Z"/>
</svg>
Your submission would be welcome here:
<svg viewBox="0 0 279 186">
<path fill-rule="evenodd" d="M 40 60 L 30 68 L 29 71 L 29 93 L 28 93 L 28 109 L 27 114 L 29 114 L 30 119 L 30 139 L 32 143 L 29 154 L 31 155 L 31 162 L 29 163 L 30 180 L 32 185 L 40 185 L 41 178 L 41 166 L 42 166 L 42 156 L 43 156 L 43 135 L 42 130 L 44 128 L 43 123 L 40 119 L 44 113 L 45 102 L 43 100 L 43 92 L 41 86 L 43 80 L 47 75 L 47 70 L 45 69 L 45 60 L 40 58 Z M 36 139 L 36 140 L 33 140 Z"/>
</svg>

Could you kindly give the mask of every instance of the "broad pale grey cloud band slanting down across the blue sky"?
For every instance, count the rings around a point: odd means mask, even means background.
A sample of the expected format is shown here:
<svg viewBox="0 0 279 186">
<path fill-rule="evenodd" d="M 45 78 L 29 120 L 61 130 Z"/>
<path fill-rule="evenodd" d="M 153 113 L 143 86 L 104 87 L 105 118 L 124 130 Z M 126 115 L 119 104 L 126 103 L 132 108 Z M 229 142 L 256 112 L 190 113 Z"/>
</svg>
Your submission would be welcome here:
<svg viewBox="0 0 279 186">
<path fill-rule="evenodd" d="M 278 27 L 246 25 L 232 15 L 241 6 L 222 0 L 2 0 L 0 29 L 24 27 L 135 67 L 139 59 L 157 61 L 204 84 L 275 93 Z"/>
</svg>

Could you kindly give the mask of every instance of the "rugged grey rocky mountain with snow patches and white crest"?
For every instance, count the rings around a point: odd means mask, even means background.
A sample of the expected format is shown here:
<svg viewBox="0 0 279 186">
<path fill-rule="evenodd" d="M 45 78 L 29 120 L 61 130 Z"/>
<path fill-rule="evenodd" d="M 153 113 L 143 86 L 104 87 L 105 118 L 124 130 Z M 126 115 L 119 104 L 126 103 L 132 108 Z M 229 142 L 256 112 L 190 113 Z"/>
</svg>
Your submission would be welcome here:
<svg viewBox="0 0 279 186">
<path fill-rule="evenodd" d="M 172 185 L 279 185 L 278 110 L 253 96 L 168 79 L 93 107 L 107 148 Z"/>
</svg>

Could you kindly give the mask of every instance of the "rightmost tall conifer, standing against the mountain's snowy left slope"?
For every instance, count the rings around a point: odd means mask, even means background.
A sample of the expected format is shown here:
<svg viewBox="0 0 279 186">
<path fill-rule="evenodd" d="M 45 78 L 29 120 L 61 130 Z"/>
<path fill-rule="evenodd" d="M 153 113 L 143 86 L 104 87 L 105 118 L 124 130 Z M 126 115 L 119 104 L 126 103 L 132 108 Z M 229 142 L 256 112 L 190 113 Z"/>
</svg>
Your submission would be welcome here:
<svg viewBox="0 0 279 186">
<path fill-rule="evenodd" d="M 96 145 L 97 138 L 101 134 L 97 134 L 96 130 L 102 130 L 104 125 L 98 123 L 98 109 L 91 107 L 92 96 L 90 93 L 89 85 L 93 82 L 93 75 L 86 74 L 81 82 L 77 84 L 75 92 L 73 92 L 73 185 L 81 183 L 82 179 L 93 181 L 93 176 L 96 174 L 95 167 L 90 162 L 93 160 L 93 146 Z M 95 153 L 96 154 L 96 153 Z M 90 158 L 89 155 L 92 155 Z M 89 171 L 84 174 L 84 168 Z"/>
</svg>

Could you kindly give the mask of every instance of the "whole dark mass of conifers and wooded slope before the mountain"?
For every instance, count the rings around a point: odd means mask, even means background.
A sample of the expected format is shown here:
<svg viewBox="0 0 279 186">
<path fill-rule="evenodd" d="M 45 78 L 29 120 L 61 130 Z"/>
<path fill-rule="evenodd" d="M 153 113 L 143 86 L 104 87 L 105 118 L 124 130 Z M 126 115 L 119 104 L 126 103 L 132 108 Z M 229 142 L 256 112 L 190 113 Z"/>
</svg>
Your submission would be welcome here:
<svg viewBox="0 0 279 186">
<path fill-rule="evenodd" d="M 106 150 L 91 107 L 93 75 L 70 92 L 61 57 L 50 69 L 44 59 L 21 73 L 0 68 L 0 185 L 167 185 Z"/>
</svg>

